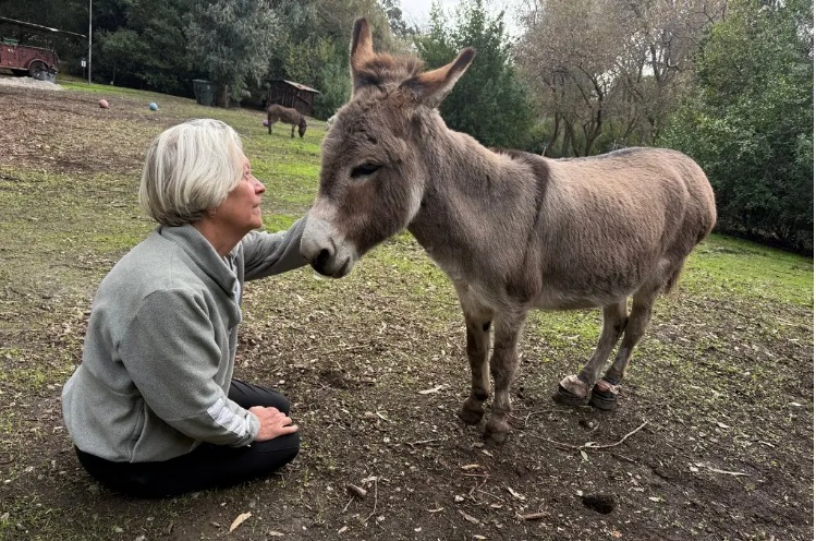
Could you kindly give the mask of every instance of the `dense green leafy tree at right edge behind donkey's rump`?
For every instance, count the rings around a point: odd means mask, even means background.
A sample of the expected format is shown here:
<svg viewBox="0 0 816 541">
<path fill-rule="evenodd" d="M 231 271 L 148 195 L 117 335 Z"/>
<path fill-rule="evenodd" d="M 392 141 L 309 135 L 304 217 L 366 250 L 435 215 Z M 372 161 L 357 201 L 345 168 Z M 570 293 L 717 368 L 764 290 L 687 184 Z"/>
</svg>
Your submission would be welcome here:
<svg viewBox="0 0 816 541">
<path fill-rule="evenodd" d="M 732 0 L 661 143 L 699 161 L 721 230 L 813 250 L 813 3 Z"/>
</svg>

